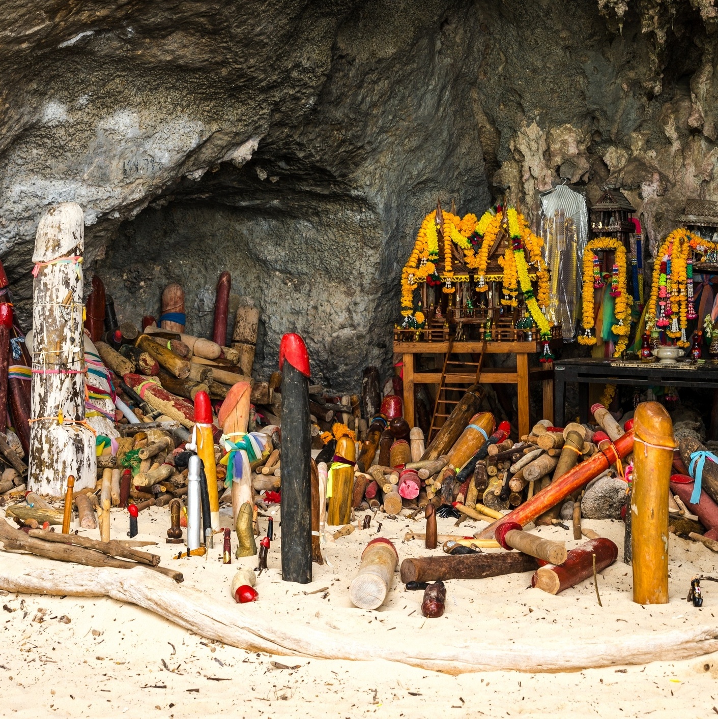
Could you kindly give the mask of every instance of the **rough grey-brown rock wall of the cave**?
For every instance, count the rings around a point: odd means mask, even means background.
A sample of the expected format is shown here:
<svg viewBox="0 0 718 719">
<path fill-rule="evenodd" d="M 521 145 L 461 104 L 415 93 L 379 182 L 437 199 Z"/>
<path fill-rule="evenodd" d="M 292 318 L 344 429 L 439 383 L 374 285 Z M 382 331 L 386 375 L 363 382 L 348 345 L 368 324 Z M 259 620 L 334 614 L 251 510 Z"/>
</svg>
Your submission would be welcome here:
<svg viewBox="0 0 718 719">
<path fill-rule="evenodd" d="M 399 273 L 424 214 L 561 177 L 619 186 L 650 243 L 718 198 L 710 0 L 11 0 L 0 26 L 0 252 L 27 318 L 42 211 L 86 210 L 87 270 L 120 316 L 214 285 L 284 331 L 317 379 L 391 363 Z"/>
</svg>

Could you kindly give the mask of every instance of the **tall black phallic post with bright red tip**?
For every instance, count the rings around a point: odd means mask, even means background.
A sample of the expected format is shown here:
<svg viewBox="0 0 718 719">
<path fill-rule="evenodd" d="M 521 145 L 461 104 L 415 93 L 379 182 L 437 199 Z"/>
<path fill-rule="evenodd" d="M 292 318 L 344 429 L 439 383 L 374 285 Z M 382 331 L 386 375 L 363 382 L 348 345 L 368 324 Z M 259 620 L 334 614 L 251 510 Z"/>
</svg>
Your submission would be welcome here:
<svg viewBox="0 0 718 719">
<path fill-rule="evenodd" d="M 309 354 L 299 334 L 282 337 L 279 367 L 282 372 L 282 579 L 308 584 L 312 581 L 312 434 L 309 421 L 309 377 L 312 373 Z M 353 477 L 354 472 L 350 471 Z M 351 491 L 348 496 L 351 502 Z"/>
</svg>

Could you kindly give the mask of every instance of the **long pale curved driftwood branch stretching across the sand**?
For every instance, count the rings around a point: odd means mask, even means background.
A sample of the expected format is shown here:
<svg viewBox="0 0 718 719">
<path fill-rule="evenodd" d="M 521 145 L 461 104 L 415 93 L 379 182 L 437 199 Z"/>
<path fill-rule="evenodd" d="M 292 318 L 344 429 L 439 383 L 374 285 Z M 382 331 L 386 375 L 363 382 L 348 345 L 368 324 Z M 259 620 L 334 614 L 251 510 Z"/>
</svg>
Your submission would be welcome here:
<svg viewBox="0 0 718 719">
<path fill-rule="evenodd" d="M 112 597 L 136 604 L 170 619 L 200 636 L 248 651 L 294 654 L 317 659 L 386 659 L 446 674 L 514 669 L 519 672 L 571 672 L 615 664 L 647 664 L 650 661 L 688 659 L 718 650 L 718 628 L 701 626 L 660 634 L 641 633 L 606 641 L 573 644 L 442 645 L 436 642 L 402 641 L 330 633 L 306 625 L 284 627 L 256 605 L 234 605 L 212 599 L 191 587 L 176 587 L 147 567 L 131 572 L 117 569 L 58 567 L 18 572 L 0 566 L 0 589 L 24 594 Z"/>
</svg>

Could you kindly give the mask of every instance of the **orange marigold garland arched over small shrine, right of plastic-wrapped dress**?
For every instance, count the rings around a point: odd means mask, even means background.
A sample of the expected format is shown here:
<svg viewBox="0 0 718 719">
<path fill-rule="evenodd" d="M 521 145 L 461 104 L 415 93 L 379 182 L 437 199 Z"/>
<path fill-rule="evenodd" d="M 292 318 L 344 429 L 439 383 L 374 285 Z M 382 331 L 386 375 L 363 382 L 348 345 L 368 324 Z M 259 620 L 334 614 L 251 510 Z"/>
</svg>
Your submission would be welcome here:
<svg viewBox="0 0 718 719">
<path fill-rule="evenodd" d="M 626 288 L 626 248 L 621 240 L 615 237 L 596 237 L 586 244 L 583 251 L 583 296 L 581 310 L 581 326 L 583 326 L 583 334 L 578 335 L 579 344 L 596 344 L 596 335 L 591 332 L 596 324 L 594 319 L 594 289 L 602 286 L 596 284 L 594 278 L 594 262 L 596 256 L 594 250 L 612 249 L 616 253 L 614 267 L 616 267 L 616 277 L 614 283 L 615 288 L 612 289 L 612 296 L 615 298 L 614 314 L 618 320 L 618 324 L 614 324 L 611 331 L 619 335 L 619 341 L 616 344 L 614 357 L 617 357 L 628 344 L 628 335 L 631 331 L 630 306 L 633 298 L 628 294 Z M 624 320 L 627 323 L 624 324 Z M 619 352 L 619 347 L 622 347 Z"/>
</svg>

